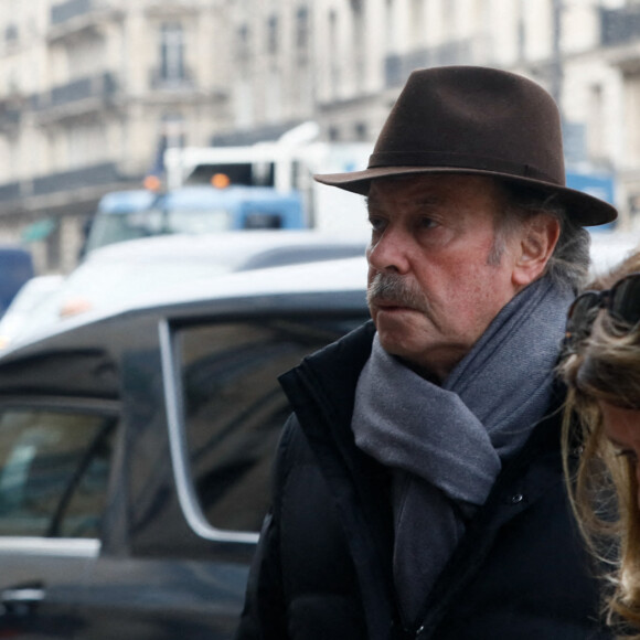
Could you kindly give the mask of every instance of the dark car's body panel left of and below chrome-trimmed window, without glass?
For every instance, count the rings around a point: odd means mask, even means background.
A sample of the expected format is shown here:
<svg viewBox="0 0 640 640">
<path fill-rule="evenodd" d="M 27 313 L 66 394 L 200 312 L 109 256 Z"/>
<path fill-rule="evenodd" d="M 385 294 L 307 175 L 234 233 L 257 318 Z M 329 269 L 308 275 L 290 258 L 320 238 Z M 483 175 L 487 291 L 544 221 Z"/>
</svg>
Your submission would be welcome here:
<svg viewBox="0 0 640 640">
<path fill-rule="evenodd" d="M 77 600 L 83 620 L 77 638 L 228 639 L 253 544 L 205 538 L 181 511 L 167 425 L 175 390 L 164 375 L 152 320 L 132 316 L 118 324 L 118 335 L 126 337 L 118 361 L 124 446 L 109 527 Z"/>
</svg>

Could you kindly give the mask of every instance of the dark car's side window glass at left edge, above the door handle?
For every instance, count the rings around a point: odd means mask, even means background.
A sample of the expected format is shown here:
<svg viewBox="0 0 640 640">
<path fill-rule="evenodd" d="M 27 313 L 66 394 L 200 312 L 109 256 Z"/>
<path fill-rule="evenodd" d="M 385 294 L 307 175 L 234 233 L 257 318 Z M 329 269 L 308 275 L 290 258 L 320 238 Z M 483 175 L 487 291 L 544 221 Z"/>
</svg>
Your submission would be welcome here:
<svg viewBox="0 0 640 640">
<path fill-rule="evenodd" d="M 98 537 L 111 417 L 0 410 L 0 535 Z"/>
</svg>

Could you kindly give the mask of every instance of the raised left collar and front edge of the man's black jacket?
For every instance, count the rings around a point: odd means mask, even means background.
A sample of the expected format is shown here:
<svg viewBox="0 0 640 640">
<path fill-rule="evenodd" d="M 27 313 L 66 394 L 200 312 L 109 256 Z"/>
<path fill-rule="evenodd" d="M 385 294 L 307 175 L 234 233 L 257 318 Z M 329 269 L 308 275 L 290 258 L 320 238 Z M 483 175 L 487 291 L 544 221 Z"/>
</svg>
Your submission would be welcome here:
<svg viewBox="0 0 640 640">
<path fill-rule="evenodd" d="M 388 471 L 361 451 L 351 430 L 354 390 L 371 354 L 372 322 L 305 359 L 280 384 L 322 468 L 358 574 L 369 638 L 388 638 L 396 618 Z"/>
</svg>

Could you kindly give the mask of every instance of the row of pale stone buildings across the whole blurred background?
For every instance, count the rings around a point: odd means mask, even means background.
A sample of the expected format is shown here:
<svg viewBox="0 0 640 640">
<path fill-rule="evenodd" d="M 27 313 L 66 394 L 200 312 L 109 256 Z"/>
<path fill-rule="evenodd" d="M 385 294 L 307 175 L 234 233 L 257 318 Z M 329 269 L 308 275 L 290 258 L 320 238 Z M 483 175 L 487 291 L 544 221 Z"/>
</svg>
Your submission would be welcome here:
<svg viewBox="0 0 640 640">
<path fill-rule="evenodd" d="M 70 270 L 108 191 L 175 146 L 274 140 L 314 120 L 372 142 L 413 68 L 481 64 L 547 87 L 567 167 L 640 220 L 640 2 L 3 0 L 0 239 Z"/>
</svg>

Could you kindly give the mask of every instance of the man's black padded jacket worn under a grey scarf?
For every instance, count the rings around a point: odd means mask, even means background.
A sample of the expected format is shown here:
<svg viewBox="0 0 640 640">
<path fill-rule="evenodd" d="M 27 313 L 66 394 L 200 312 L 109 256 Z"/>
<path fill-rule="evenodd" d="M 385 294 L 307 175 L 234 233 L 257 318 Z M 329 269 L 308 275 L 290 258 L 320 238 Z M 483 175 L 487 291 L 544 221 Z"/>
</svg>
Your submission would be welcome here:
<svg viewBox="0 0 640 640">
<path fill-rule="evenodd" d="M 418 623 L 399 619 L 388 472 L 350 428 L 373 333 L 367 323 L 281 377 L 295 413 L 236 639 L 611 638 L 566 500 L 558 410 L 503 468 Z"/>
</svg>

